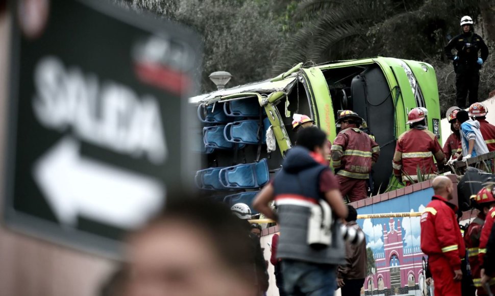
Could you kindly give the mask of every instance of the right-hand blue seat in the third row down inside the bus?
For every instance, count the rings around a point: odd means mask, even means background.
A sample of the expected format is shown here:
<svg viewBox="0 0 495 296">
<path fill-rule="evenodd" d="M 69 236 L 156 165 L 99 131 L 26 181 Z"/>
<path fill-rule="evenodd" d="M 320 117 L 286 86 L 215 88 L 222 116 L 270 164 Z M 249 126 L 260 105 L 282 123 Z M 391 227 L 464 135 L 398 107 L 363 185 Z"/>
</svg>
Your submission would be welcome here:
<svg viewBox="0 0 495 296">
<path fill-rule="evenodd" d="M 220 184 L 226 188 L 260 188 L 268 183 L 268 163 L 266 158 L 263 158 L 255 163 L 229 166 L 222 168 L 218 177 Z"/>
</svg>

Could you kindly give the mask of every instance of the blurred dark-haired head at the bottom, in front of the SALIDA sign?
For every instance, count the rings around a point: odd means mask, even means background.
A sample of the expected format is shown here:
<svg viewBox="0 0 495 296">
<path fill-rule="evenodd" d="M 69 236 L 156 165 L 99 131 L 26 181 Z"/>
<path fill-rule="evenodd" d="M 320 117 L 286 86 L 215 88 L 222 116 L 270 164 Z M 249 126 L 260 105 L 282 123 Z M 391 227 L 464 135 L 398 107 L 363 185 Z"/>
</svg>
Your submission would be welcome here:
<svg viewBox="0 0 495 296">
<path fill-rule="evenodd" d="M 207 199 L 169 198 L 132 234 L 124 296 L 257 295 L 245 224 Z"/>
</svg>

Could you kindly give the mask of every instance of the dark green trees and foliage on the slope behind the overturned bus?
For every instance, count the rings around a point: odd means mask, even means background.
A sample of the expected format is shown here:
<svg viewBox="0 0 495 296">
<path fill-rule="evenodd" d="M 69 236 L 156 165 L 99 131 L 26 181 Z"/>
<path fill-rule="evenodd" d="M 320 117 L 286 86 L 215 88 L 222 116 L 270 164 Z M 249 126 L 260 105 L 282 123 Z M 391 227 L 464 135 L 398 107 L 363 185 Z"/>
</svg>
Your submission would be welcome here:
<svg viewBox="0 0 495 296">
<path fill-rule="evenodd" d="M 432 64 L 442 114 L 455 103 L 455 73 L 443 47 L 460 33 L 461 16 L 481 20 L 478 0 L 110 1 L 196 29 L 204 41 L 203 91 L 215 88 L 208 78 L 213 71 L 231 72 L 232 87 L 277 76 L 299 62 L 380 55 Z M 481 24 L 475 30 L 482 31 Z M 481 71 L 480 99 L 495 89 L 492 57 Z"/>
</svg>

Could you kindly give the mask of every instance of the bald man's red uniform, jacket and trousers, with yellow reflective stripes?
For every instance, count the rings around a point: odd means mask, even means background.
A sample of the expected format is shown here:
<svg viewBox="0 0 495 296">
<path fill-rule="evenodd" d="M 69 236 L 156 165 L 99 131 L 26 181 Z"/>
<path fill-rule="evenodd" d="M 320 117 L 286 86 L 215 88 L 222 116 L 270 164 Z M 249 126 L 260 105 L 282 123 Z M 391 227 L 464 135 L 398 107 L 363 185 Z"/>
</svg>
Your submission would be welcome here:
<svg viewBox="0 0 495 296">
<path fill-rule="evenodd" d="M 466 249 L 456 212 L 455 205 L 433 195 L 421 215 L 421 250 L 428 255 L 436 296 L 461 295 L 461 282 L 454 281 L 454 270 L 461 269 Z"/>
</svg>

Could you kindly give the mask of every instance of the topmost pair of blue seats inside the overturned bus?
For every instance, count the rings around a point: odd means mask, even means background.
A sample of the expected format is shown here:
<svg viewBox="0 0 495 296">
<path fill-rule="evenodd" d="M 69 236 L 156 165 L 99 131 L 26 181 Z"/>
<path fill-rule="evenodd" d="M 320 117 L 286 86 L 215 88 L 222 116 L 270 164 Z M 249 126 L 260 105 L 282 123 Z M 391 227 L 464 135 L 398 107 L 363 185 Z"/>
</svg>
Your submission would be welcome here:
<svg viewBox="0 0 495 296">
<path fill-rule="evenodd" d="M 230 101 L 210 106 L 200 105 L 197 108 L 197 117 L 205 124 L 222 124 L 233 121 L 233 117 L 259 116 L 260 105 L 255 100 Z"/>
</svg>

